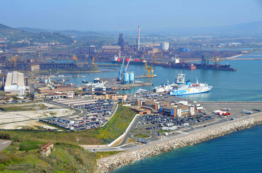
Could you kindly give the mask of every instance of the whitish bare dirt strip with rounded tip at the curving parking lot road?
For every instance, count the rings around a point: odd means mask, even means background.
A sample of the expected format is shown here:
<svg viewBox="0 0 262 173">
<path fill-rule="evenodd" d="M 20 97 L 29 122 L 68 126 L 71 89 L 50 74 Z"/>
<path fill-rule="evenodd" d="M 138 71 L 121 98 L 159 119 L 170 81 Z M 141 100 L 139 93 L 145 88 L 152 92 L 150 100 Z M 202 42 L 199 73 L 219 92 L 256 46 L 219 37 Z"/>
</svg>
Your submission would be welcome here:
<svg viewBox="0 0 262 173">
<path fill-rule="evenodd" d="M 45 118 L 49 113 L 52 116 L 69 116 L 76 113 L 75 110 L 69 108 L 60 108 L 60 109 L 45 109 L 45 110 L 31 110 L 31 111 L 9 111 L 0 113 L 0 124 L 11 123 L 17 121 L 31 120 L 37 118 Z M 26 116 L 26 117 L 25 117 Z"/>
</svg>

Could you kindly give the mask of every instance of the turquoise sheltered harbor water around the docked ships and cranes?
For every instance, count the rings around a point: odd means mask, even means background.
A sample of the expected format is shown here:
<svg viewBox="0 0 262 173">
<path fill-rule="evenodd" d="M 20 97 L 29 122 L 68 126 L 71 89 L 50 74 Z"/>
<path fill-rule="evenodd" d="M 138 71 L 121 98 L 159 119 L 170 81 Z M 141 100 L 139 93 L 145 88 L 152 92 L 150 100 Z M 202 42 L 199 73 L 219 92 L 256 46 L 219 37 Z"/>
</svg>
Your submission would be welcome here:
<svg viewBox="0 0 262 173">
<path fill-rule="evenodd" d="M 262 53 L 261 53 L 262 54 Z M 255 57 L 255 56 L 249 56 Z M 259 56 L 260 57 L 260 56 Z M 57 61 L 58 62 L 58 61 Z M 184 95 L 182 98 L 192 99 L 196 101 L 261 101 L 262 100 L 262 70 L 261 60 L 228 60 L 222 61 L 221 64 L 231 64 L 232 68 L 237 68 L 237 71 L 223 71 L 223 70 L 205 70 L 205 69 L 178 69 L 165 68 L 161 66 L 153 66 L 154 74 L 157 77 L 152 78 L 152 86 L 159 86 L 162 83 L 166 84 L 167 79 L 169 83 L 176 82 L 177 74 L 181 72 L 185 74 L 185 81 L 190 80 L 196 82 L 196 77 L 201 83 L 207 83 L 213 86 L 210 92 L 202 94 Z M 105 64 L 105 62 L 97 62 L 97 64 Z M 110 63 L 107 63 L 110 64 Z M 126 64 L 125 64 L 126 65 Z M 127 71 L 134 71 L 135 76 L 141 76 L 145 72 L 144 65 L 130 64 Z M 61 75 L 62 73 L 60 73 Z M 79 84 L 82 80 L 93 82 L 94 78 L 108 78 L 117 77 L 118 72 L 98 72 L 98 73 L 76 73 L 70 72 L 63 75 L 79 75 L 86 76 L 85 78 L 70 78 L 68 83 Z M 142 82 L 151 82 L 150 78 L 136 79 Z M 151 86 L 132 87 L 130 90 L 119 90 L 119 93 L 134 93 L 139 88 L 151 90 Z"/>
</svg>

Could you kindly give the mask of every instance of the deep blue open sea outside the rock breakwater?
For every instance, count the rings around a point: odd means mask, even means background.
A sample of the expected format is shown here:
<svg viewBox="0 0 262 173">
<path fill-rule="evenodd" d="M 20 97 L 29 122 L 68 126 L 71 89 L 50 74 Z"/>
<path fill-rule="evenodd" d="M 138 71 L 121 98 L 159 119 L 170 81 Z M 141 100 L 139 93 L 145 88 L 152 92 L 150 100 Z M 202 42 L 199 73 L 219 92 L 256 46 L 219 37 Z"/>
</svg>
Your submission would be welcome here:
<svg viewBox="0 0 262 173">
<path fill-rule="evenodd" d="M 122 172 L 262 172 L 262 124 L 139 160 Z"/>
</svg>

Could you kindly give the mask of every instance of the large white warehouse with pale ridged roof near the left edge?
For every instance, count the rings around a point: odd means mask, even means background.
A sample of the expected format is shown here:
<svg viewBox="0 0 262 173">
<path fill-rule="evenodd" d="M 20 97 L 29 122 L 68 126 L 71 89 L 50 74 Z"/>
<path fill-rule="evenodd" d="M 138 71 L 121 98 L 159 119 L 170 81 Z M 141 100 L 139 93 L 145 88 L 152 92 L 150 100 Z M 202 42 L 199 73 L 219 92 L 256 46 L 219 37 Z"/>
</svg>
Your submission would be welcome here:
<svg viewBox="0 0 262 173">
<path fill-rule="evenodd" d="M 17 71 L 7 73 L 4 92 L 6 95 L 25 95 L 24 73 Z"/>
</svg>

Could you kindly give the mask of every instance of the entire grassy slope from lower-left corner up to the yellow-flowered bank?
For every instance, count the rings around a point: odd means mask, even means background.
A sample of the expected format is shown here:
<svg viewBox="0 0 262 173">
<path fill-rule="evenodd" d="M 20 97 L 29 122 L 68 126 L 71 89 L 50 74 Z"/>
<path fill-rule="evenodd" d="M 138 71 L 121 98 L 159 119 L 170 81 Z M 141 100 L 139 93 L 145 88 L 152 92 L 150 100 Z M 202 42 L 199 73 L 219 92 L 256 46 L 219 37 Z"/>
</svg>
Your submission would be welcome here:
<svg viewBox="0 0 262 173">
<path fill-rule="evenodd" d="M 1 131 L 0 139 L 15 141 L 0 152 L 1 172 L 94 172 L 96 159 L 116 154 L 117 152 L 88 152 L 79 144 L 105 144 L 120 136 L 132 121 L 135 113 L 119 106 L 116 114 L 105 127 L 76 131 L 74 133 L 57 132 L 17 132 Z M 102 134 L 102 135 L 101 135 Z M 29 141 L 29 142 L 28 142 Z M 49 157 L 40 156 L 40 147 L 53 142 L 55 151 Z M 24 145 L 25 151 L 16 149 Z M 36 146 L 38 145 L 38 146 Z M 50 165 L 50 166 L 49 166 Z"/>
</svg>

